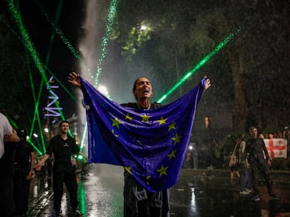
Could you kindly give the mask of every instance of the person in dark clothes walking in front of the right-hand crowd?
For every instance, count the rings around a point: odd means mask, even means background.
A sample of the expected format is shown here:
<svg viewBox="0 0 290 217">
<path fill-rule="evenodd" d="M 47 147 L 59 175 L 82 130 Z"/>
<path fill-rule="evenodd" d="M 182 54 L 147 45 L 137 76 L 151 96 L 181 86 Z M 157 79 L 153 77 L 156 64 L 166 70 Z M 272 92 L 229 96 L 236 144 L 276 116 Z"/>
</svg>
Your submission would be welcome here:
<svg viewBox="0 0 290 217">
<path fill-rule="evenodd" d="M 265 147 L 265 142 L 261 137 L 258 137 L 258 130 L 256 127 L 249 128 L 250 139 L 246 143 L 247 153 L 247 167 L 251 168 L 251 181 L 254 188 L 254 197 L 252 200 L 260 200 L 258 185 L 258 171 L 263 174 L 268 188 L 268 195 L 279 200 L 279 196 L 273 193 L 272 184 L 270 181 L 269 167 L 271 167 L 271 160 L 268 151 Z M 264 156 L 265 155 L 265 156 Z"/>
</svg>

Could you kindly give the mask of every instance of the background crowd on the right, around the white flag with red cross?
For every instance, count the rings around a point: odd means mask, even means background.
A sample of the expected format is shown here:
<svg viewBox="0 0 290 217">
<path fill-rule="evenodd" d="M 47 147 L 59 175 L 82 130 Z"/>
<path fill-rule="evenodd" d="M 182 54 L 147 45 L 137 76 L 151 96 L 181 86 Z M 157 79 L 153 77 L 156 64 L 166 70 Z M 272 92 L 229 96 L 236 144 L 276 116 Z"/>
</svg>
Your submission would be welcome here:
<svg viewBox="0 0 290 217">
<path fill-rule="evenodd" d="M 226 142 L 216 142 L 214 140 L 207 148 L 201 146 L 200 154 L 198 154 L 198 148 L 192 151 L 188 150 L 184 167 L 195 167 L 194 161 L 198 160 L 193 158 L 200 157 L 200 165 L 202 167 L 215 167 L 215 168 L 229 168 L 230 169 L 230 181 L 240 182 L 240 195 L 254 194 L 252 200 L 258 201 L 259 190 L 258 186 L 258 174 L 263 175 L 265 183 L 268 188 L 268 195 L 279 200 L 279 196 L 273 193 L 272 184 L 270 180 L 269 168 L 272 163 L 268 150 L 265 146 L 264 139 L 284 139 L 287 140 L 287 156 L 289 156 L 289 139 L 290 131 L 285 128 L 283 133 L 275 134 L 258 134 L 256 127 L 251 126 L 249 128 L 249 134 L 243 133 L 242 136 L 233 140 L 228 137 Z M 231 141 L 231 142 L 228 142 Z M 227 143 L 228 142 L 228 143 Z M 227 144 L 230 144 L 227 147 Z M 205 157 L 202 151 L 207 150 L 208 156 Z M 209 151 L 211 150 L 211 151 Z"/>
</svg>

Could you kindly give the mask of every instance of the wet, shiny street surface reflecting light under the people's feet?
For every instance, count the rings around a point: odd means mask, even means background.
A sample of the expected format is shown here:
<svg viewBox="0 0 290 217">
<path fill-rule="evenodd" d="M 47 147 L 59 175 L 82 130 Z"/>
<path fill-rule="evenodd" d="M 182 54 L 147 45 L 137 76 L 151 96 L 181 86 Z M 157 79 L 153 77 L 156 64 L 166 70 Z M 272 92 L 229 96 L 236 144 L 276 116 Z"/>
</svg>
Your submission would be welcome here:
<svg viewBox="0 0 290 217">
<path fill-rule="evenodd" d="M 239 194 L 239 181 L 230 181 L 230 171 L 182 170 L 179 182 L 171 189 L 170 216 L 290 216 L 289 173 L 273 174 L 273 189 L 281 200 L 268 196 L 265 183 L 259 189 L 261 200 Z M 88 175 L 78 174 L 78 201 L 84 216 L 123 216 L 123 168 L 91 165 Z M 55 216 L 53 191 L 47 180 L 32 180 L 28 216 Z M 62 197 L 62 213 L 71 215 L 66 192 Z"/>
</svg>

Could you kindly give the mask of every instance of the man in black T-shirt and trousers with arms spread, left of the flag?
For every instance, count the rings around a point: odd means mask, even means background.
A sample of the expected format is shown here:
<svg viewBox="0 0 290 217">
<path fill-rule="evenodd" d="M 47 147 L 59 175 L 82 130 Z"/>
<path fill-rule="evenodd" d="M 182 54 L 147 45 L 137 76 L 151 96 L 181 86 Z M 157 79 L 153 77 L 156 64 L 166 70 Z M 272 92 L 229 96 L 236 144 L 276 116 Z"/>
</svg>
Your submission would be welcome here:
<svg viewBox="0 0 290 217">
<path fill-rule="evenodd" d="M 57 216 L 64 216 L 61 209 L 63 184 L 67 186 L 69 192 L 72 212 L 75 216 L 83 216 L 78 209 L 76 175 L 74 167 L 71 165 L 71 155 L 77 154 L 80 149 L 76 145 L 73 137 L 69 134 L 69 122 L 60 122 L 60 134 L 55 135 L 50 140 L 46 154 L 36 165 L 36 170 L 40 170 L 43 163 L 53 154 L 55 163 L 53 166 L 53 208 Z"/>
</svg>

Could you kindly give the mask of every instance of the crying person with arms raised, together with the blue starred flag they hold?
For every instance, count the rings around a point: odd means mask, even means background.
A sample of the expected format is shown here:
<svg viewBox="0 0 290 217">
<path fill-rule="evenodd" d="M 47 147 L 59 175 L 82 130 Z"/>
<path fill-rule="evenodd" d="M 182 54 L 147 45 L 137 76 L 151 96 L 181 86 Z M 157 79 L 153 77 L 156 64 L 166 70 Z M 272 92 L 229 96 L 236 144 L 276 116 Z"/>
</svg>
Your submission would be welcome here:
<svg viewBox="0 0 290 217">
<path fill-rule="evenodd" d="M 83 91 L 89 108 L 89 162 L 125 169 L 124 216 L 169 216 L 169 188 L 177 183 L 195 110 L 210 80 L 205 77 L 169 105 L 151 103 L 153 89 L 146 77 L 134 82 L 137 102 L 123 105 L 102 96 L 74 72 L 69 82 Z"/>
</svg>

